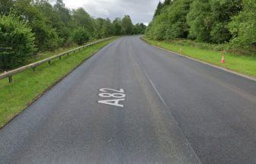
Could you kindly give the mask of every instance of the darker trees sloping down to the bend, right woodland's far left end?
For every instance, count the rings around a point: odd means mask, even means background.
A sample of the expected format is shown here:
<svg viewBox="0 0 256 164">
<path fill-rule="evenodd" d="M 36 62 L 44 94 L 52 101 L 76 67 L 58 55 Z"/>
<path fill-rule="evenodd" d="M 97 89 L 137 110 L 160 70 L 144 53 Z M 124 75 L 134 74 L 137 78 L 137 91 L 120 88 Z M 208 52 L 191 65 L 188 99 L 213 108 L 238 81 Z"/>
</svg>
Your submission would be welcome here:
<svg viewBox="0 0 256 164">
<path fill-rule="evenodd" d="M 189 27 L 186 17 L 192 0 L 165 2 L 161 14 L 155 16 L 146 35 L 152 39 L 186 38 Z"/>
</svg>

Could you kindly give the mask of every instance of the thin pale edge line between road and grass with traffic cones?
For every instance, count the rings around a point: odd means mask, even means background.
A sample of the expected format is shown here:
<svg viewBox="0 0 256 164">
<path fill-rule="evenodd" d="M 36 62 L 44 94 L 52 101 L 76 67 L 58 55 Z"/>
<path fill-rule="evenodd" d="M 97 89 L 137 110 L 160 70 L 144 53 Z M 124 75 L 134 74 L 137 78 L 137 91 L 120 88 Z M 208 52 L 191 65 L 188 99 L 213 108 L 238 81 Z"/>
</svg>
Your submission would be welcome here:
<svg viewBox="0 0 256 164">
<path fill-rule="evenodd" d="M 142 39 L 142 40 L 143 40 L 143 39 Z M 146 40 L 143 40 L 143 41 L 146 42 Z M 147 43 L 147 42 L 146 42 L 146 43 Z M 240 76 L 240 77 L 244 77 L 244 78 L 247 78 L 247 79 L 249 79 L 249 80 L 254 80 L 254 81 L 256 81 L 256 78 L 254 78 L 254 77 L 250 77 L 250 76 L 245 75 L 245 74 L 240 74 L 240 73 L 238 73 L 238 72 L 236 72 L 236 71 L 231 71 L 231 70 L 229 70 L 229 69 L 227 69 L 227 68 L 222 68 L 222 67 L 219 67 L 219 66 L 217 66 L 217 65 L 212 65 L 212 64 L 210 64 L 210 63 L 208 63 L 208 62 L 206 62 L 206 61 L 201 61 L 201 60 L 199 60 L 199 59 L 192 58 L 192 57 L 187 56 L 187 55 L 182 55 L 182 54 L 179 54 L 179 53 L 177 53 L 177 52 L 173 52 L 173 51 L 171 51 L 171 50 L 164 49 L 164 48 L 162 48 L 162 47 L 158 47 L 158 46 L 152 45 L 152 44 L 150 44 L 150 43 L 148 43 L 148 44 L 149 44 L 150 46 L 155 47 L 155 48 L 165 50 L 166 52 L 171 52 L 171 53 L 174 53 L 175 55 L 180 55 L 180 56 L 183 56 L 183 57 L 185 57 L 185 58 L 189 58 L 189 59 L 191 59 L 191 60 L 200 62 L 200 63 L 202 63 L 202 64 L 204 64 L 204 65 L 210 65 L 210 66 L 212 66 L 213 68 L 218 68 L 218 69 L 220 69 L 220 70 L 222 70 L 222 71 L 227 71 L 227 72 L 229 72 L 229 73 L 231 73 L 231 74 L 235 74 L 235 75 L 238 75 L 238 76 Z"/>
</svg>

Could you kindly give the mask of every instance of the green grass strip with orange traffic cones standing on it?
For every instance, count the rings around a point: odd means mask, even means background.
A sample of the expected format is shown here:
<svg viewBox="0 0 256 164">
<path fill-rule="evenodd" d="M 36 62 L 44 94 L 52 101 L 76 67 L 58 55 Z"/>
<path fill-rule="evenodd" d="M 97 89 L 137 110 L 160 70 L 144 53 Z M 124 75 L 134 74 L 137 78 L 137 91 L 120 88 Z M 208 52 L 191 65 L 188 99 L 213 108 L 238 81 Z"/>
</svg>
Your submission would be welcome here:
<svg viewBox="0 0 256 164">
<path fill-rule="evenodd" d="M 200 49 L 195 46 L 181 46 L 175 42 L 167 42 L 167 41 L 155 41 L 151 39 L 146 39 L 143 37 L 146 42 L 158 46 L 164 49 L 171 50 L 173 52 L 180 52 L 182 47 L 183 55 L 190 56 L 192 58 L 197 58 L 201 61 L 206 61 L 213 65 L 221 66 L 222 68 L 227 68 L 232 71 L 236 71 L 238 73 L 246 74 L 251 77 L 256 77 L 256 56 L 255 55 L 238 55 L 232 53 L 225 53 L 226 64 L 222 64 L 221 58 L 222 53 L 211 50 L 211 49 Z"/>
</svg>

